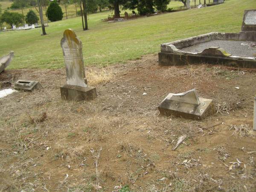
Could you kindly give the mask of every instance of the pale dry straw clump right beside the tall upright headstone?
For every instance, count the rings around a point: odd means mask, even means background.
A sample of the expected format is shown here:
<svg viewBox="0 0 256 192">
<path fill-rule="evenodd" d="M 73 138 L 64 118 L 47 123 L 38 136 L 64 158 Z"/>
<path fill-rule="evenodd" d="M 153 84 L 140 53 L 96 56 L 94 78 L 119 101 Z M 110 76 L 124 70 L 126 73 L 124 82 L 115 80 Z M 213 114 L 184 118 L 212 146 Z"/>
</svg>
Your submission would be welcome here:
<svg viewBox="0 0 256 192">
<path fill-rule="evenodd" d="M 86 72 L 87 80 L 91 85 L 106 84 L 114 77 L 113 70 L 109 67 L 102 68 L 99 71 L 89 69 Z"/>
</svg>

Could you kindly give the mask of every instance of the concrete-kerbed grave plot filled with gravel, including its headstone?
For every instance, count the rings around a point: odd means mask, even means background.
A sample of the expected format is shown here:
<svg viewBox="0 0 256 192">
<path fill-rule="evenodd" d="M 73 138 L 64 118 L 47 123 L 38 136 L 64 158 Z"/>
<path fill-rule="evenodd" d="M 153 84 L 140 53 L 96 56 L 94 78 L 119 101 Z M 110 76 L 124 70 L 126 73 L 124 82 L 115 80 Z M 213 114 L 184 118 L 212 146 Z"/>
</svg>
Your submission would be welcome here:
<svg viewBox="0 0 256 192">
<path fill-rule="evenodd" d="M 251 46 L 248 47 L 245 44 Z M 161 44 L 158 58 L 160 65 L 208 63 L 256 68 L 255 45 L 256 9 L 251 9 L 244 11 L 240 33 L 211 32 Z"/>
</svg>

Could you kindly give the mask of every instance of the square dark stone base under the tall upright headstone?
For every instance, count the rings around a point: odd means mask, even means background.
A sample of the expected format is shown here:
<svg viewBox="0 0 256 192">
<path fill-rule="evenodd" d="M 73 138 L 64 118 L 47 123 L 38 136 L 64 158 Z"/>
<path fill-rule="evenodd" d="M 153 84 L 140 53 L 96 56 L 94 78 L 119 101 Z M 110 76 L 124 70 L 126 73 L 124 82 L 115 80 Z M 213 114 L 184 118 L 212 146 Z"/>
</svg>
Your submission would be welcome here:
<svg viewBox="0 0 256 192">
<path fill-rule="evenodd" d="M 61 87 L 61 99 L 63 100 L 90 100 L 97 96 L 95 87 L 80 87 L 75 85 L 64 84 Z"/>
</svg>

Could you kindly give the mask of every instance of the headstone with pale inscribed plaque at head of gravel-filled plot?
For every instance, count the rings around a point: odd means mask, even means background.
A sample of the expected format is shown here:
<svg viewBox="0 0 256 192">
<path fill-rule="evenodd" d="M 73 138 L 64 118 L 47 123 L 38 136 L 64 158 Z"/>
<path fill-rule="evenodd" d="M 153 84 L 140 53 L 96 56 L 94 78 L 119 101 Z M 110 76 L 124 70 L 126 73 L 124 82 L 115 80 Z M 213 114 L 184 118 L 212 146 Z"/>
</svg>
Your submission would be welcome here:
<svg viewBox="0 0 256 192">
<path fill-rule="evenodd" d="M 247 41 L 256 41 L 256 9 L 244 10 L 240 38 Z"/>
</svg>

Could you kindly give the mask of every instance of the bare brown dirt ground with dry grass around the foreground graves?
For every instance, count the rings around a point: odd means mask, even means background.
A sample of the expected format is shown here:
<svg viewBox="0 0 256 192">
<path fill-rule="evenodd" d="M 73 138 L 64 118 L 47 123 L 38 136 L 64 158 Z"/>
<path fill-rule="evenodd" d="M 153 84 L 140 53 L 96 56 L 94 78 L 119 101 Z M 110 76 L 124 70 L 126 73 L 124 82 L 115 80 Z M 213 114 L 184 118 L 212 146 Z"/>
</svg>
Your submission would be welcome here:
<svg viewBox="0 0 256 192">
<path fill-rule="evenodd" d="M 146 55 L 87 67 L 98 93 L 88 102 L 60 99 L 63 68 L 6 70 L 3 77 L 36 79 L 44 88 L 0 100 L 2 191 L 256 190 L 256 140 L 248 135 L 255 70 L 163 67 L 156 54 Z M 215 115 L 203 121 L 160 115 L 168 93 L 192 88 L 213 99 Z M 182 135 L 186 140 L 172 151 Z"/>
</svg>

